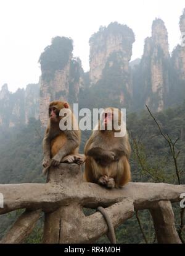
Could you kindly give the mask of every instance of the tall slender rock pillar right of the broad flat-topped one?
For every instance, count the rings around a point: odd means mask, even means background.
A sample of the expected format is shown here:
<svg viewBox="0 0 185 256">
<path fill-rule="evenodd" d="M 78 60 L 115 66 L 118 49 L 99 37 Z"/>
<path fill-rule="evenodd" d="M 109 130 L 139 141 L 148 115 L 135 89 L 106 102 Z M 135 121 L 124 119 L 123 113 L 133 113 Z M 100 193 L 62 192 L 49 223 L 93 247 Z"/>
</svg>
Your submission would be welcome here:
<svg viewBox="0 0 185 256">
<path fill-rule="evenodd" d="M 134 70 L 134 97 L 141 108 L 149 105 L 153 111 L 161 111 L 167 104 L 169 91 L 168 32 L 163 20 L 155 19 L 152 36 L 147 37 L 141 63 Z"/>
</svg>

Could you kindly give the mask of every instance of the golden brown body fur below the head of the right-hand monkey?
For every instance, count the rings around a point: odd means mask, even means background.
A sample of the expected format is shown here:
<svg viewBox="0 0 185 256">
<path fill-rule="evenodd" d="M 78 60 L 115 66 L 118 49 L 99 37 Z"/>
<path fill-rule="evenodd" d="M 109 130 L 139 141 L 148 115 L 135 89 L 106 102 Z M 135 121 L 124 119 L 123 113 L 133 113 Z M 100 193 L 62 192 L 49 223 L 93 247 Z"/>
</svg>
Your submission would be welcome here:
<svg viewBox="0 0 185 256">
<path fill-rule="evenodd" d="M 93 150 L 93 148 L 95 152 L 93 152 L 94 156 L 91 156 L 88 152 Z M 102 158 L 105 162 L 106 154 L 115 152 L 116 157 L 117 149 L 120 152 L 120 157 L 118 161 L 111 161 L 109 164 L 101 165 L 96 161 L 96 157 L 99 157 L 96 156 L 96 148 L 99 149 L 101 154 L 104 154 Z M 118 188 L 125 185 L 131 180 L 130 164 L 128 162 L 130 152 L 131 148 L 127 133 L 124 137 L 119 138 L 114 136 L 114 130 L 93 131 L 84 148 L 84 154 L 86 156 L 84 179 L 87 182 L 101 183 L 110 188 Z"/>
</svg>

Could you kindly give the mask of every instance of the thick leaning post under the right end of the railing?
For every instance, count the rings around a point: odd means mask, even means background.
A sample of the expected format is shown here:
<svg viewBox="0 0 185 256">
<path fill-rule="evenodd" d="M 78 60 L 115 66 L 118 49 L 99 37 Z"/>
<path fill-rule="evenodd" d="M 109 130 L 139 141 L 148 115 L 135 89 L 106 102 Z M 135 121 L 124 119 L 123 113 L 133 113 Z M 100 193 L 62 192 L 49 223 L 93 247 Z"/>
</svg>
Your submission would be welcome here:
<svg viewBox="0 0 185 256">
<path fill-rule="evenodd" d="M 158 244 L 181 244 L 170 201 L 158 201 L 150 209 Z"/>
</svg>

